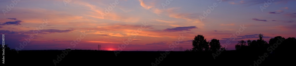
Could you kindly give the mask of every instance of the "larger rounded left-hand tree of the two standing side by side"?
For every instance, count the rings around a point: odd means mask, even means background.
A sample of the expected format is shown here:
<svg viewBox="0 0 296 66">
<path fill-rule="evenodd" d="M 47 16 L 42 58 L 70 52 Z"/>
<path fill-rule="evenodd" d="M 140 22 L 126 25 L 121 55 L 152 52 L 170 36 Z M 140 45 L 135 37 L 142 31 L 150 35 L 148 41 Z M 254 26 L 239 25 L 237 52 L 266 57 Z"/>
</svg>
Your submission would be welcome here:
<svg viewBox="0 0 296 66">
<path fill-rule="evenodd" d="M 209 42 L 202 35 L 197 35 L 192 40 L 192 51 L 209 51 Z"/>
</svg>

